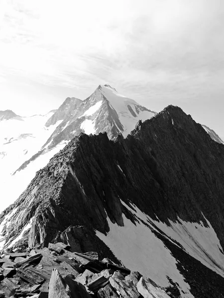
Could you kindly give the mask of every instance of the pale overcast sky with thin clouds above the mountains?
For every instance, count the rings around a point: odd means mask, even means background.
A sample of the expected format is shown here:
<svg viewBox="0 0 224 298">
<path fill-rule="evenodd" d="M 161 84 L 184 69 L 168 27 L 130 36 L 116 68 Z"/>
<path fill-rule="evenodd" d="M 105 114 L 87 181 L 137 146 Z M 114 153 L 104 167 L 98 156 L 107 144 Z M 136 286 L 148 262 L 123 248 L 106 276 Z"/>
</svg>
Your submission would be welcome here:
<svg viewBox="0 0 224 298">
<path fill-rule="evenodd" d="M 43 114 L 104 83 L 224 139 L 224 0 L 0 0 L 0 110 Z"/>
</svg>

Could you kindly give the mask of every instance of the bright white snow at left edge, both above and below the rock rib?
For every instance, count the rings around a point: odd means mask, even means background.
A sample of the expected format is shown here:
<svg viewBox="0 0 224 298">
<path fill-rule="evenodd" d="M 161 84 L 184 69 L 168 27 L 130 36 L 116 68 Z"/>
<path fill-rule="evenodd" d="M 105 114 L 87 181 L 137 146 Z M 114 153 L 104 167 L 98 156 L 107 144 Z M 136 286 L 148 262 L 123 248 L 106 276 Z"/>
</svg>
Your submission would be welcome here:
<svg viewBox="0 0 224 298">
<path fill-rule="evenodd" d="M 32 176 L 29 171 L 26 175 L 13 176 L 12 173 L 21 163 L 36 153 L 37 149 L 46 142 L 55 128 L 55 125 L 46 127 L 46 121 L 53 115 L 35 115 L 32 117 L 13 117 L 0 121 L 0 181 L 1 196 L 7 198 L 2 200 L 0 211 L 12 203 L 27 186 Z M 43 163 L 43 166 L 45 162 Z M 35 168 L 41 166 L 41 162 Z M 26 178 L 27 177 L 27 178 Z M 30 178 L 29 178 L 30 177 Z"/>
</svg>

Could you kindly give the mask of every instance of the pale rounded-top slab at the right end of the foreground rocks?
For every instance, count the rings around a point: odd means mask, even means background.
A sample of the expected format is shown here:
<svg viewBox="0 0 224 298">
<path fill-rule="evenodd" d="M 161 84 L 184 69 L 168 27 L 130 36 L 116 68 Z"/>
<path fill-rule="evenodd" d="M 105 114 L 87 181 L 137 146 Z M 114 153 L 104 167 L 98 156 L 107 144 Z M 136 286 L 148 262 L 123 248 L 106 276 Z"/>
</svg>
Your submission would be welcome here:
<svg viewBox="0 0 224 298">
<path fill-rule="evenodd" d="M 170 298 L 165 291 L 146 277 L 141 277 L 137 283 L 137 290 L 144 298 Z"/>
</svg>

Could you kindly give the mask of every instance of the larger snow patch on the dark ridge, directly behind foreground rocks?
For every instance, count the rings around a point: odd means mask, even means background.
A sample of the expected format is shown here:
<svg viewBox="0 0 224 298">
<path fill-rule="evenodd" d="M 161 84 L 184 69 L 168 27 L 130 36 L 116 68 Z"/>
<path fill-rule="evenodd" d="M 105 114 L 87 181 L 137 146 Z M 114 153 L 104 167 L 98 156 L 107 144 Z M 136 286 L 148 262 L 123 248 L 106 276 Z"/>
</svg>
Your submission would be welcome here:
<svg viewBox="0 0 224 298">
<path fill-rule="evenodd" d="M 121 203 L 131 210 L 124 202 Z M 152 279 L 161 287 L 170 285 L 167 277 L 179 284 L 182 298 L 193 298 L 189 285 L 184 281 L 176 266 L 176 259 L 164 243 L 156 237 L 148 226 L 148 218 L 136 206 L 135 216 L 138 223 L 133 224 L 122 215 L 124 226 L 113 224 L 107 218 L 110 231 L 107 235 L 96 231 L 97 236 L 111 248 L 114 255 L 125 267 L 138 271 Z"/>
</svg>

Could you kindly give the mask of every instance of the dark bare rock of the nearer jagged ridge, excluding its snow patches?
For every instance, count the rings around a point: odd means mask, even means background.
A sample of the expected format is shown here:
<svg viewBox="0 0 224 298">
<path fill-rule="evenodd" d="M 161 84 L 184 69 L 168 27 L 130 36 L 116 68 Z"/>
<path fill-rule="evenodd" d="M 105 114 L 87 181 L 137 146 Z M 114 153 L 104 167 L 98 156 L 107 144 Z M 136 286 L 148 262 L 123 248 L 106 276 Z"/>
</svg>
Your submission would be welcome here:
<svg viewBox="0 0 224 298">
<path fill-rule="evenodd" d="M 97 250 L 104 257 L 108 251 L 102 241 L 95 239 L 90 247 L 81 238 L 86 234 L 94 239 L 94 229 L 107 234 L 107 217 L 122 226 L 125 214 L 134 223 L 134 215 L 122 200 L 130 208 L 131 202 L 152 220 L 167 225 L 169 220 L 181 219 L 208 226 L 207 219 L 224 248 L 223 179 L 224 146 L 214 142 L 190 115 L 169 106 L 152 119 L 139 122 L 126 139 L 119 135 L 111 141 L 107 134 L 81 134 L 74 138 L 37 172 L 20 198 L 1 214 L 2 221 L 17 208 L 3 233 L 6 241 L 9 236 L 12 240 L 30 223 L 29 232 L 13 247 L 47 246 L 59 238 L 66 243 L 71 237 L 76 251 Z M 216 273 L 200 262 L 198 265 L 166 237 L 159 233 L 158 237 L 193 275 L 201 266 L 200 270 L 218 287 L 216 295 L 224 294 L 215 282 Z M 92 239 L 90 242 L 94 243 Z M 202 285 L 204 292 L 209 293 L 203 277 L 197 276 L 194 283 L 189 272 L 181 270 L 190 280 L 195 297 L 203 297 L 196 290 Z M 217 280 L 223 278 L 219 276 Z"/>
</svg>

